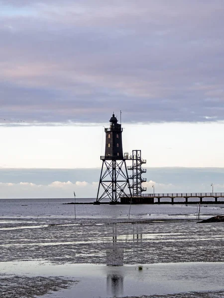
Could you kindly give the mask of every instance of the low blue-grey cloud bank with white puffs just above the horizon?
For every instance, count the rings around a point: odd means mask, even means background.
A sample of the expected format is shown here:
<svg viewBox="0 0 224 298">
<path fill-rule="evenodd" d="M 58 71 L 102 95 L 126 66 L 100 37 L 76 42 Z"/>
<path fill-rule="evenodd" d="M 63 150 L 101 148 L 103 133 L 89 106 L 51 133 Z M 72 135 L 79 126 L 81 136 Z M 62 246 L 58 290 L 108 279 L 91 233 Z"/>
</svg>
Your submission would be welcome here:
<svg viewBox="0 0 224 298">
<path fill-rule="evenodd" d="M 0 169 L 0 198 L 73 198 L 74 191 L 77 198 L 96 198 L 99 173 L 88 168 Z M 224 190 L 224 168 L 154 167 L 143 176 L 146 193 L 153 192 L 152 185 L 155 193 L 211 192 L 211 183 L 214 192 Z"/>
</svg>

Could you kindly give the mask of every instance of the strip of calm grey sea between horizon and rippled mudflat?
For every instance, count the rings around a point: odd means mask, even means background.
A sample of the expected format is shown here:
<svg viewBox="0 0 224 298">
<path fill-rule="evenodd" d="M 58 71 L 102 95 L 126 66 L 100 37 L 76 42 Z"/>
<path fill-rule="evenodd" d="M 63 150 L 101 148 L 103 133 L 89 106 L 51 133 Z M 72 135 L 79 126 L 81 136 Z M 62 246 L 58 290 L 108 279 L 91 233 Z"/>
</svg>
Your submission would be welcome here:
<svg viewBox="0 0 224 298">
<path fill-rule="evenodd" d="M 6 217 L 58 217 L 73 218 L 76 212 L 77 218 L 174 218 L 174 219 L 196 219 L 199 205 L 197 204 L 154 204 L 154 205 L 93 205 L 96 198 L 74 198 L 63 199 L 0 199 L 0 218 Z M 104 201 L 102 201 L 104 202 Z M 223 205 L 200 206 L 201 218 L 208 218 L 217 214 L 224 215 Z"/>
</svg>

